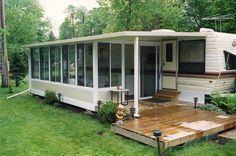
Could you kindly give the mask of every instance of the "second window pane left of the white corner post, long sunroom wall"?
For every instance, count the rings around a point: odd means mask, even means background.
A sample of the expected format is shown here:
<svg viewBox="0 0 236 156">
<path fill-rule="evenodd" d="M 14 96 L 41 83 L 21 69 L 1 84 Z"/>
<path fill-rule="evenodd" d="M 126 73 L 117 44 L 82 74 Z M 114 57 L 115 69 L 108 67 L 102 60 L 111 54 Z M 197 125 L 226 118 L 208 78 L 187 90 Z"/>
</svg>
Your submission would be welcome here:
<svg viewBox="0 0 236 156">
<path fill-rule="evenodd" d="M 77 45 L 78 85 L 84 86 L 84 44 Z"/>
</svg>

